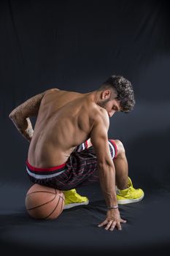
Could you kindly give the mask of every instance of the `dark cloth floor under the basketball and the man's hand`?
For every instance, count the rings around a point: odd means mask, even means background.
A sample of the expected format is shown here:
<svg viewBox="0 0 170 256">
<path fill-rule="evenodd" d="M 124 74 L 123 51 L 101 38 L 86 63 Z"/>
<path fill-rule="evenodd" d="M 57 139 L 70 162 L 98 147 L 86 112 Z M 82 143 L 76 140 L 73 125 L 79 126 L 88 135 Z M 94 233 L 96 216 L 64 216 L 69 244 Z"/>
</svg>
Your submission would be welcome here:
<svg viewBox="0 0 170 256">
<path fill-rule="evenodd" d="M 64 210 L 58 219 L 31 219 L 25 208 L 25 197 L 31 184 L 2 182 L 0 185 L 0 243 L 6 252 L 21 255 L 90 255 L 117 252 L 130 255 L 137 252 L 170 252 L 170 188 L 144 190 L 138 203 L 120 206 L 120 215 L 127 223 L 123 230 L 106 231 L 97 227 L 106 215 L 106 205 L 98 184 L 77 189 L 88 196 L 88 206 Z"/>
</svg>

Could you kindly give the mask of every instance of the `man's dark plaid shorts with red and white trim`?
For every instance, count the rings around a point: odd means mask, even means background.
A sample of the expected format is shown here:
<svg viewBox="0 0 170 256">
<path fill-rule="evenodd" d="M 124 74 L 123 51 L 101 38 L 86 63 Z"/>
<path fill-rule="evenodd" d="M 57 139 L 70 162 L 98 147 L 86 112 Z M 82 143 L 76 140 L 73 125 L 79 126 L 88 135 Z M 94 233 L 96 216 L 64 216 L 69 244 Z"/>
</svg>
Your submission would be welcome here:
<svg viewBox="0 0 170 256">
<path fill-rule="evenodd" d="M 114 159 L 117 156 L 117 146 L 114 140 L 108 140 L 108 143 Z M 26 170 L 34 184 L 61 190 L 74 189 L 99 181 L 96 154 L 93 146 L 88 148 L 87 141 L 77 146 L 63 165 L 39 168 L 30 165 L 27 160 Z"/>
</svg>

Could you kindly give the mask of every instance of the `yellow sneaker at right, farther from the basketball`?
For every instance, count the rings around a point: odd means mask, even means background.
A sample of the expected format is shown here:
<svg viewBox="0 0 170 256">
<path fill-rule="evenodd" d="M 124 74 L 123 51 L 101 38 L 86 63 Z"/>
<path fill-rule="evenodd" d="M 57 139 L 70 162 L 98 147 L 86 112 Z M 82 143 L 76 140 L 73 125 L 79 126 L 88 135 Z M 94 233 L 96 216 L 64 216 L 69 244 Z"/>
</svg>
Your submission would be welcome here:
<svg viewBox="0 0 170 256">
<path fill-rule="evenodd" d="M 131 178 L 128 177 L 128 188 L 127 189 L 117 189 L 117 203 L 123 205 L 125 203 L 136 203 L 142 200 L 144 197 L 144 192 L 142 189 L 134 189 L 131 182 Z"/>
</svg>

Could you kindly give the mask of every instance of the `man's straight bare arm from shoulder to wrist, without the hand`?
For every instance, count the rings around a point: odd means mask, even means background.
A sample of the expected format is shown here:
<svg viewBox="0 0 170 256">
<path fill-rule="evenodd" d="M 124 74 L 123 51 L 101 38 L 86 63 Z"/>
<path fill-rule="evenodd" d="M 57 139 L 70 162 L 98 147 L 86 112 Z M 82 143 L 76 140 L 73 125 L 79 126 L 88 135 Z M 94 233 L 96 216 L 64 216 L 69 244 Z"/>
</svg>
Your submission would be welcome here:
<svg viewBox="0 0 170 256">
<path fill-rule="evenodd" d="M 117 197 L 115 193 L 115 166 L 112 161 L 108 143 L 109 117 L 106 110 L 102 110 L 95 117 L 90 140 L 96 153 L 101 188 L 107 206 L 116 206 Z"/>
</svg>

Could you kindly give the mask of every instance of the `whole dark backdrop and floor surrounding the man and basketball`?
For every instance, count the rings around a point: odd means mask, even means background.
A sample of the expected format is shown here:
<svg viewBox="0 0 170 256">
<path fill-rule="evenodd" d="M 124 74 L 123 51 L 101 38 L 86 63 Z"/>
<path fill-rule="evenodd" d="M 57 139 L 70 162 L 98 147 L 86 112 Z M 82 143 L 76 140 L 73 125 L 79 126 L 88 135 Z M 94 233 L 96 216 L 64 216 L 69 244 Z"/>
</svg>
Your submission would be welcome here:
<svg viewBox="0 0 170 256">
<path fill-rule="evenodd" d="M 0 243 L 6 252 L 169 254 L 170 33 L 168 1 L 0 1 Z M 110 75 L 134 86 L 131 113 L 110 119 L 109 138 L 123 142 L 139 203 L 120 206 L 123 230 L 97 227 L 106 214 L 98 184 L 77 189 L 88 206 L 36 221 L 24 200 L 28 142 L 9 113 L 56 87 L 94 91 Z M 33 122 L 35 119 L 32 120 Z"/>
</svg>

